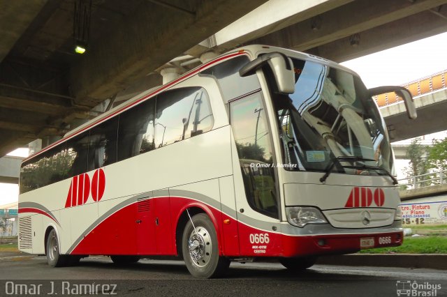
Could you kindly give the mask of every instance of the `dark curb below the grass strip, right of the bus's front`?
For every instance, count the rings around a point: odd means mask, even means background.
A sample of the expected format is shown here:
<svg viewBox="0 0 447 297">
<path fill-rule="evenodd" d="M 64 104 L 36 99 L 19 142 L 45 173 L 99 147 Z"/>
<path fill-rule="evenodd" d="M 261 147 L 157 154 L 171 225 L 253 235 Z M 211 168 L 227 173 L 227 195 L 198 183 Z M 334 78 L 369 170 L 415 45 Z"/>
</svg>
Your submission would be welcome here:
<svg viewBox="0 0 447 297">
<path fill-rule="evenodd" d="M 319 257 L 316 264 L 447 270 L 447 254 L 344 254 Z"/>
</svg>

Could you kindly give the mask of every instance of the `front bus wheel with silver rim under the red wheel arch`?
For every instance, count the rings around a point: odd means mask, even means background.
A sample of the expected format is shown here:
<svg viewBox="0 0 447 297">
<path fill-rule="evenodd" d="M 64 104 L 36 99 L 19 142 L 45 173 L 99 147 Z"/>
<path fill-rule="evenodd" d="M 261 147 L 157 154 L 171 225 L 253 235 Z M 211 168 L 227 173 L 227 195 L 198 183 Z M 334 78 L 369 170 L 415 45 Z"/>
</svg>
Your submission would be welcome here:
<svg viewBox="0 0 447 297">
<path fill-rule="evenodd" d="M 223 275 L 230 260 L 219 256 L 217 233 L 210 218 L 205 213 L 194 215 L 186 223 L 182 236 L 183 259 L 189 273 L 194 277 L 210 278 Z"/>
</svg>

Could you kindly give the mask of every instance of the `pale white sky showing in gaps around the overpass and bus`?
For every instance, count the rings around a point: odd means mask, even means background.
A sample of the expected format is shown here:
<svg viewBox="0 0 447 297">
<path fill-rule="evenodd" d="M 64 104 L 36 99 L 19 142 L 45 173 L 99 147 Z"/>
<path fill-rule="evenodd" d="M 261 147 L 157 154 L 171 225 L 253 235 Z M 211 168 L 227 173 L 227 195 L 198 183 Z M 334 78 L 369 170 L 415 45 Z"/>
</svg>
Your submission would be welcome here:
<svg viewBox="0 0 447 297">
<path fill-rule="evenodd" d="M 447 33 L 376 52 L 342 65 L 356 71 L 368 88 L 402 85 L 447 70 Z M 434 137 L 445 137 L 446 133 Z M 27 150 L 15 151 L 25 156 Z M 403 160 L 397 160 L 397 177 L 402 178 Z M 18 186 L 0 183 L 0 206 L 17 201 Z"/>
</svg>

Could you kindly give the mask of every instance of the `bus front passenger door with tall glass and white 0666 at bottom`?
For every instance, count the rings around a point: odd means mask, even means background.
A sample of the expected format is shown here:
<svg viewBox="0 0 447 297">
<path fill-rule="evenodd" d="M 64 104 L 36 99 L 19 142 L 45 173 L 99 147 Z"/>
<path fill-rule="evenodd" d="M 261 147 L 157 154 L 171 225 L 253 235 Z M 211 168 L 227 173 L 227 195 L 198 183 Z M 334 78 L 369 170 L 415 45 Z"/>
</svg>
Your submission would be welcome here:
<svg viewBox="0 0 447 297">
<path fill-rule="evenodd" d="M 274 231 L 280 230 L 279 195 L 261 91 L 230 102 L 230 124 L 240 252 L 244 256 L 277 255 L 280 239 Z"/>
</svg>

